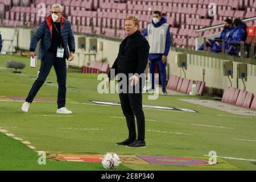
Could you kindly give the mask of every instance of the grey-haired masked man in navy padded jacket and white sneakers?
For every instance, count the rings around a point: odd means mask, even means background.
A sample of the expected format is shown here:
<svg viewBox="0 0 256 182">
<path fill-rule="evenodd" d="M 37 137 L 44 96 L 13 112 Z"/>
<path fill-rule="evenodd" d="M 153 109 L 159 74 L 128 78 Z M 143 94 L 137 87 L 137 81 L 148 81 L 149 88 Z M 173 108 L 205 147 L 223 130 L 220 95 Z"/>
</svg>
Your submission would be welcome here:
<svg viewBox="0 0 256 182">
<path fill-rule="evenodd" d="M 30 104 L 34 100 L 41 86 L 51 71 L 55 69 L 58 82 L 57 111 L 60 114 L 71 114 L 72 111 L 65 107 L 67 66 L 66 59 L 74 59 L 75 38 L 73 36 L 71 23 L 61 16 L 62 7 L 59 4 L 52 5 L 51 16 L 42 22 L 36 30 L 30 43 L 30 56 L 34 58 L 36 44 L 41 39 L 39 57 L 41 61 L 38 78 L 32 85 L 22 105 L 24 112 L 28 111 Z M 69 48 L 69 49 L 68 49 Z M 69 52 L 70 51 L 70 52 Z"/>
</svg>

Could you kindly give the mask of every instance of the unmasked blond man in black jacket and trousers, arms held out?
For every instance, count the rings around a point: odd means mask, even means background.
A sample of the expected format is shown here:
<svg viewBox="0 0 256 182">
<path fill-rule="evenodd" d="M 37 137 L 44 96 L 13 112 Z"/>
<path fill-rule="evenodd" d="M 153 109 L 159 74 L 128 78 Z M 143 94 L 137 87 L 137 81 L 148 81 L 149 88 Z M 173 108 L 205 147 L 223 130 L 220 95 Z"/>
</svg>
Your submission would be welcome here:
<svg viewBox="0 0 256 182">
<path fill-rule="evenodd" d="M 138 29 L 139 23 L 135 16 L 129 16 L 125 19 L 127 37 L 121 43 L 117 59 L 115 59 L 112 71 L 110 71 L 110 73 L 114 71 L 115 74 L 109 73 L 108 78 L 106 78 L 107 86 L 109 85 L 109 80 L 113 80 L 117 74 L 119 85 L 123 81 L 119 79 L 120 73 L 123 73 L 127 78 L 126 85 L 119 86 L 119 98 L 129 129 L 129 137 L 123 142 L 116 143 L 127 147 L 146 147 L 142 88 L 146 80 L 144 70 L 147 67 L 150 46 Z M 134 115 L 137 119 L 137 139 Z"/>
</svg>

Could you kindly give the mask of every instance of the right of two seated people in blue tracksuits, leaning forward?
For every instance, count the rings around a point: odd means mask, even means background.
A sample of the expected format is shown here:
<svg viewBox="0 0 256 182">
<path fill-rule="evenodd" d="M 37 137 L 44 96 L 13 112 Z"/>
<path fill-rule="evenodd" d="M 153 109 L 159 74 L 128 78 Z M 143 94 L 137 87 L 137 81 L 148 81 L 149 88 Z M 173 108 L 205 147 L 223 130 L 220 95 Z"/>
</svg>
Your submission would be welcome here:
<svg viewBox="0 0 256 182">
<path fill-rule="evenodd" d="M 236 18 L 234 20 L 234 30 L 228 35 L 228 53 L 237 54 L 237 48 L 234 46 L 234 43 L 240 43 L 246 39 L 246 24 L 242 22 L 241 19 Z"/>
</svg>

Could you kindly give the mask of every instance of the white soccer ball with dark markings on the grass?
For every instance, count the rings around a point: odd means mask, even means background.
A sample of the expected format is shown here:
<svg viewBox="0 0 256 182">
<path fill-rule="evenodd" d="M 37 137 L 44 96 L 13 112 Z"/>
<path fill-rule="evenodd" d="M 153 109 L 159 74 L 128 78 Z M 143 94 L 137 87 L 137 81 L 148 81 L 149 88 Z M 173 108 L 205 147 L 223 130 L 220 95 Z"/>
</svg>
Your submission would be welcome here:
<svg viewBox="0 0 256 182">
<path fill-rule="evenodd" d="M 119 156 L 113 152 L 108 152 L 102 158 L 102 166 L 106 169 L 117 168 L 120 164 Z"/>
</svg>

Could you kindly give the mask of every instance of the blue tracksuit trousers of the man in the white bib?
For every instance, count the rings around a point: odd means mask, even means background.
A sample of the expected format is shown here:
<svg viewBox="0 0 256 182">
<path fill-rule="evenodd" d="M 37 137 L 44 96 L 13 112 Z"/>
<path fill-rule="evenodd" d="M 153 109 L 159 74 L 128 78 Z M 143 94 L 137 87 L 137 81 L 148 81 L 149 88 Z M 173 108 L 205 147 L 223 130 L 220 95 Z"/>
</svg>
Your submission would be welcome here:
<svg viewBox="0 0 256 182">
<path fill-rule="evenodd" d="M 150 80 L 151 80 L 151 88 L 155 88 L 155 68 L 156 68 L 156 63 L 158 63 L 158 68 L 159 68 L 159 75 L 160 75 L 160 80 L 162 83 L 162 88 L 166 88 L 166 62 L 162 63 L 162 57 L 156 58 L 156 59 L 150 59 Z"/>
</svg>

